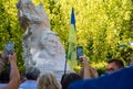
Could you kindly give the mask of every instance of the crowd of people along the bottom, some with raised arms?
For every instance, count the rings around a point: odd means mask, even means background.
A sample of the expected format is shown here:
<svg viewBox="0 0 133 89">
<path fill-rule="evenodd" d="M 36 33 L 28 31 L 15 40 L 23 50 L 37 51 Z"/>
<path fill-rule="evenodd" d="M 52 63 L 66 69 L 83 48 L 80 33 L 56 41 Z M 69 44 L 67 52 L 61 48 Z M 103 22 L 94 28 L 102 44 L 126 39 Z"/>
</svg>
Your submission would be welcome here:
<svg viewBox="0 0 133 89">
<path fill-rule="evenodd" d="M 110 59 L 106 73 L 102 76 L 89 65 L 85 56 L 81 56 L 81 59 L 82 68 L 79 73 L 66 73 L 58 81 L 53 73 L 40 75 L 37 67 L 30 67 L 25 73 L 19 71 L 17 54 L 9 55 L 7 59 L 3 51 L 0 59 L 0 89 L 132 89 L 130 82 L 133 80 L 133 68 L 125 68 L 121 59 Z M 127 88 L 120 88 L 124 81 L 119 80 L 123 79 L 127 80 Z"/>
</svg>

